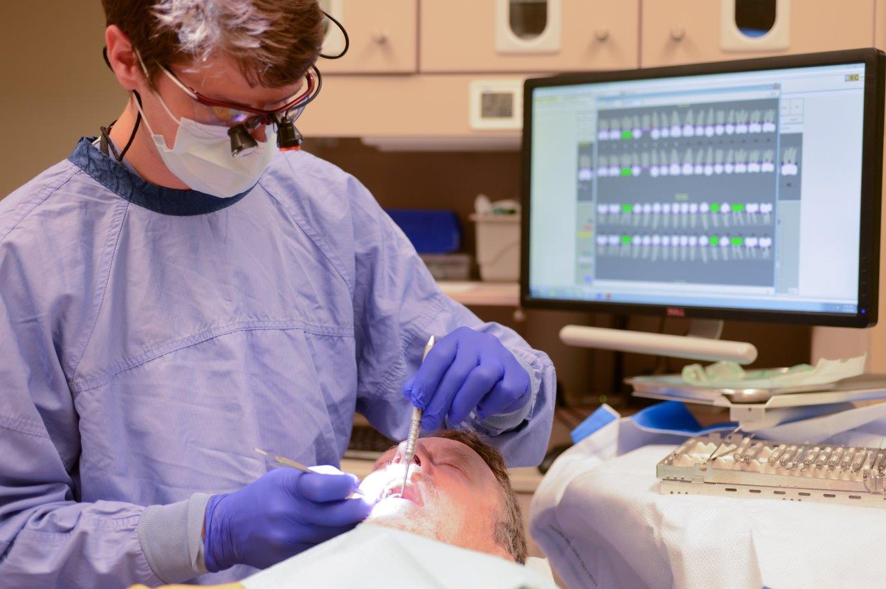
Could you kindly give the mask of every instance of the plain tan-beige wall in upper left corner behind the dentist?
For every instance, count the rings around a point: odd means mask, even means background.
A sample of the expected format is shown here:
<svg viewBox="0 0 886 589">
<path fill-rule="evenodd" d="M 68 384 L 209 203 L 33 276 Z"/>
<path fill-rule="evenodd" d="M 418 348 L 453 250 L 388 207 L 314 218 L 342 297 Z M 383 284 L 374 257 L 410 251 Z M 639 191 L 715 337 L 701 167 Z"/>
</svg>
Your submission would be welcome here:
<svg viewBox="0 0 886 589">
<path fill-rule="evenodd" d="M 100 0 L 3 3 L 0 198 L 114 120 L 126 95 L 102 59 Z"/>
</svg>

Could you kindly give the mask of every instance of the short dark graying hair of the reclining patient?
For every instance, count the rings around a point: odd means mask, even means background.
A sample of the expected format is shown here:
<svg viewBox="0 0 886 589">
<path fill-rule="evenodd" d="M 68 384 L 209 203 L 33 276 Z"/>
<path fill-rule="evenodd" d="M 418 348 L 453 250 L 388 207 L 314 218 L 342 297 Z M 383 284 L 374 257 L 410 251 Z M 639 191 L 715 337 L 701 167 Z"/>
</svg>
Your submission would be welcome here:
<svg viewBox="0 0 886 589">
<path fill-rule="evenodd" d="M 526 562 L 526 530 L 523 525 L 523 514 L 517 493 L 510 485 L 508 463 L 498 448 L 491 446 L 472 430 L 442 430 L 433 434 L 433 438 L 452 439 L 468 446 L 478 453 L 493 471 L 495 480 L 501 489 L 501 509 L 495 520 L 495 543 L 508 551 L 515 562 Z"/>
</svg>

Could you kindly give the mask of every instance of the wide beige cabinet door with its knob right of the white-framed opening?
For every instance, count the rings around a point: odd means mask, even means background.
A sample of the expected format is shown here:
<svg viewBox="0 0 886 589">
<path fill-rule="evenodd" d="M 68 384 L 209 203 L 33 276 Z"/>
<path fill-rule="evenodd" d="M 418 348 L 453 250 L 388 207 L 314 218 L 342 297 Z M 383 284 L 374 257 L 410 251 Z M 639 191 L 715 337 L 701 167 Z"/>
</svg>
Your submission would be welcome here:
<svg viewBox="0 0 886 589">
<path fill-rule="evenodd" d="M 547 0 L 554 38 L 523 43 L 509 6 L 545 0 L 422 0 L 422 72 L 556 72 L 637 67 L 640 0 Z M 504 41 L 502 42 L 502 39 Z M 547 43 L 550 41 L 550 43 Z M 510 46 L 502 47 L 502 43 Z"/>
</svg>

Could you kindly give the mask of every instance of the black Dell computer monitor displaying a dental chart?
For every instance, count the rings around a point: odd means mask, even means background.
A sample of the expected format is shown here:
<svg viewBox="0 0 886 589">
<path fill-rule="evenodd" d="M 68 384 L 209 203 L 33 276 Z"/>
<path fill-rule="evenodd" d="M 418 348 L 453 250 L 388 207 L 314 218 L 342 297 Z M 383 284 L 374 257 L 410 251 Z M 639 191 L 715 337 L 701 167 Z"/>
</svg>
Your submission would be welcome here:
<svg viewBox="0 0 886 589">
<path fill-rule="evenodd" d="M 848 50 L 525 82 L 525 306 L 876 322 L 883 64 Z"/>
</svg>

